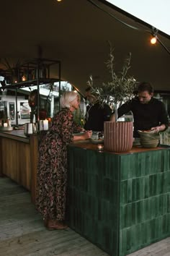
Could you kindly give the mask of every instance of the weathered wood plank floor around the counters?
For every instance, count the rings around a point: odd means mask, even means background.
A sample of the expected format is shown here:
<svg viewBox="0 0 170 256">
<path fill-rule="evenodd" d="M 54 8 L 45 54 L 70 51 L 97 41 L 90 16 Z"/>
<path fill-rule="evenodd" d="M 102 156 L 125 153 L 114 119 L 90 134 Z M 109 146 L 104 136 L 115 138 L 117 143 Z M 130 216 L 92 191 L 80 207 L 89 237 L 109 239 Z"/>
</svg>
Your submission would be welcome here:
<svg viewBox="0 0 170 256">
<path fill-rule="evenodd" d="M 107 253 L 71 229 L 45 229 L 31 203 L 30 192 L 11 179 L 0 178 L 0 256 L 54 255 L 107 256 Z M 129 256 L 137 255 L 170 256 L 170 238 Z"/>
</svg>

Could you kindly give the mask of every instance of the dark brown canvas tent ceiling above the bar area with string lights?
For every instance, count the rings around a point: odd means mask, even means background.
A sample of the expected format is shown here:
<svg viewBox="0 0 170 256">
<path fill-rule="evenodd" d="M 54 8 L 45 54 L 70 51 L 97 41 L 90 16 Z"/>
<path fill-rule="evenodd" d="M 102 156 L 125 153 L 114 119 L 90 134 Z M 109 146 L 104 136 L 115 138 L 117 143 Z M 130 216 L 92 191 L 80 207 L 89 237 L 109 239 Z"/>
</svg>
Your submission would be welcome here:
<svg viewBox="0 0 170 256">
<path fill-rule="evenodd" d="M 107 1 L 93 2 L 99 8 L 88 0 L 1 1 L 1 60 L 15 63 L 17 59 L 37 58 L 41 46 L 43 58 L 61 60 L 62 80 L 84 94 L 90 74 L 97 85 L 109 80 L 104 64 L 109 40 L 115 48 L 117 70 L 131 52 L 130 74 L 138 81 L 152 82 L 156 90 L 170 91 L 170 54 L 160 43 L 151 46 L 147 32 L 151 32 L 151 25 L 120 12 Z M 158 38 L 170 49 L 169 35 L 158 32 Z"/>
</svg>

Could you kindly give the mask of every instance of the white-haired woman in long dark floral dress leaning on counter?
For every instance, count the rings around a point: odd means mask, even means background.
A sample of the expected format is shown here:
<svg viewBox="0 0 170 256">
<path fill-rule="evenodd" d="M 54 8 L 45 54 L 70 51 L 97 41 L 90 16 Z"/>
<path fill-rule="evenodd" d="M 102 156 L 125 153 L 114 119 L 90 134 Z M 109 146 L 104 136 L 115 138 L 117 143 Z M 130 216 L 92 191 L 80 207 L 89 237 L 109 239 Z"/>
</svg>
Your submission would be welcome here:
<svg viewBox="0 0 170 256">
<path fill-rule="evenodd" d="M 73 122 L 73 111 L 79 108 L 79 103 L 77 93 L 64 93 L 61 111 L 54 116 L 52 126 L 40 140 L 35 205 L 50 230 L 67 228 L 67 145 L 72 141 L 87 140 L 92 134 Z M 74 136 L 73 132 L 84 134 Z"/>
</svg>

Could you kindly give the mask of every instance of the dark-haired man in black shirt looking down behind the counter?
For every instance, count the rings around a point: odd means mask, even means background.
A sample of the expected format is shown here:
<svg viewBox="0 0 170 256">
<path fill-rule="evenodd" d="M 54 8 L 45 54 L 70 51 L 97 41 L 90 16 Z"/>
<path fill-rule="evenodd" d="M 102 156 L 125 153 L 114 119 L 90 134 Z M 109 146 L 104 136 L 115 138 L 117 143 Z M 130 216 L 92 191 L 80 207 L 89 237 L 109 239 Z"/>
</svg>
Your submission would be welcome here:
<svg viewBox="0 0 170 256">
<path fill-rule="evenodd" d="M 128 101 L 117 110 L 118 117 L 133 112 L 134 137 L 140 137 L 138 130 L 155 130 L 163 132 L 169 126 L 168 114 L 164 103 L 153 98 L 153 87 L 149 82 L 141 82 L 138 86 L 138 96 Z M 115 115 L 111 116 L 115 121 Z"/>
</svg>

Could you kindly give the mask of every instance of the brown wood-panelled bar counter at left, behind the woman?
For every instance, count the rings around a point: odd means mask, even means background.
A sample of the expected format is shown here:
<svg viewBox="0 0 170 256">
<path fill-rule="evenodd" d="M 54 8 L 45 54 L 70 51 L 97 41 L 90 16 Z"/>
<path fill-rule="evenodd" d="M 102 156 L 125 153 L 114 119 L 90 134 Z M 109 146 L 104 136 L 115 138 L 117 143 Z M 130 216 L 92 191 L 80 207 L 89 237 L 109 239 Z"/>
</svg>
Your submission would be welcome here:
<svg viewBox="0 0 170 256">
<path fill-rule="evenodd" d="M 38 136 L 23 131 L 0 132 L 0 176 L 6 175 L 30 190 L 35 202 Z"/>
</svg>

